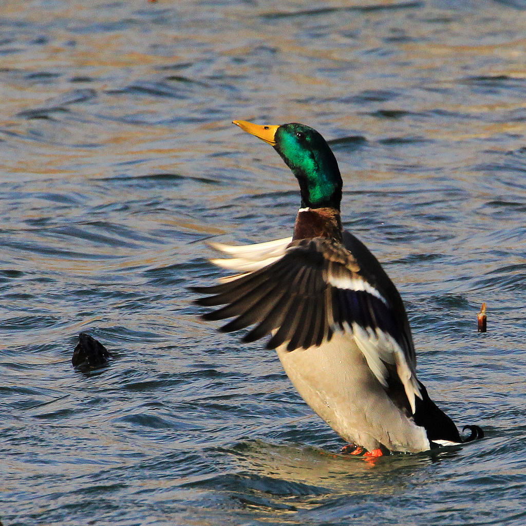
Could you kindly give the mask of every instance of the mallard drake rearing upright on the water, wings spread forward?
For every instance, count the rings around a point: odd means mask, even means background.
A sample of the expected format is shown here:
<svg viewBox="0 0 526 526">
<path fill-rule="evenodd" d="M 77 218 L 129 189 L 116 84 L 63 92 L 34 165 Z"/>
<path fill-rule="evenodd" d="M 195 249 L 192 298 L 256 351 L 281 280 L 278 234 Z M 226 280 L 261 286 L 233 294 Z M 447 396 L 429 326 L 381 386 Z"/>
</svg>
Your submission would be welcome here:
<svg viewBox="0 0 526 526">
<path fill-rule="evenodd" d="M 233 122 L 275 148 L 296 176 L 301 207 L 292 237 L 212 246 L 232 257 L 214 264 L 237 274 L 206 294 L 206 320 L 234 318 L 221 331 L 254 326 L 242 341 L 270 335 L 309 406 L 350 445 L 377 457 L 420 452 L 462 439 L 417 378 L 411 328 L 393 282 L 361 241 L 342 229 L 342 179 L 334 154 L 313 128 Z M 350 449 L 349 449 L 350 448 Z"/>
</svg>

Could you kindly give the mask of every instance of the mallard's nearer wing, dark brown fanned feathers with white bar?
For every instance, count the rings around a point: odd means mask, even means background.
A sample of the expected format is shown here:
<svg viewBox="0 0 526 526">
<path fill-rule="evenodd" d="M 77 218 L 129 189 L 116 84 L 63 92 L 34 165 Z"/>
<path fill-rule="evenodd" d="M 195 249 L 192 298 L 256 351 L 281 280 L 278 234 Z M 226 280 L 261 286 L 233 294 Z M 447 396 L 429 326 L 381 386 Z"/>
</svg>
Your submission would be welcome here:
<svg viewBox="0 0 526 526">
<path fill-rule="evenodd" d="M 378 262 L 377 266 L 381 269 Z M 222 330 L 256 324 L 245 341 L 275 331 L 270 347 L 287 343 L 288 350 L 306 349 L 329 340 L 334 330 L 356 323 L 364 329 L 383 331 L 402 348 L 412 349 L 410 333 L 408 337 L 400 330 L 403 324 L 397 323 L 383 290 L 367 278 L 367 274 L 373 275 L 371 270 L 375 269 L 364 271 L 353 253 L 336 241 L 304 239 L 292 242 L 285 255 L 267 267 L 193 290 L 213 294 L 197 300 L 199 305 L 226 304 L 204 315 L 206 319 L 236 317 Z"/>
</svg>

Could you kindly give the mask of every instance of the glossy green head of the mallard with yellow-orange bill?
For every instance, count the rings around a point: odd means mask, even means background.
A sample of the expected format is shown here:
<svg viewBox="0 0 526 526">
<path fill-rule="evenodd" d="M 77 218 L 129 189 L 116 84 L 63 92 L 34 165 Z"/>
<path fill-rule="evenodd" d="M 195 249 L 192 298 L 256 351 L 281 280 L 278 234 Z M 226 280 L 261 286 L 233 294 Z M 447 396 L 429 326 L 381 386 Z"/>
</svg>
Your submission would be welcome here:
<svg viewBox="0 0 526 526">
<path fill-rule="evenodd" d="M 340 209 L 341 175 L 325 139 L 305 124 L 265 126 L 234 120 L 234 124 L 274 146 L 299 181 L 302 208 Z"/>
</svg>

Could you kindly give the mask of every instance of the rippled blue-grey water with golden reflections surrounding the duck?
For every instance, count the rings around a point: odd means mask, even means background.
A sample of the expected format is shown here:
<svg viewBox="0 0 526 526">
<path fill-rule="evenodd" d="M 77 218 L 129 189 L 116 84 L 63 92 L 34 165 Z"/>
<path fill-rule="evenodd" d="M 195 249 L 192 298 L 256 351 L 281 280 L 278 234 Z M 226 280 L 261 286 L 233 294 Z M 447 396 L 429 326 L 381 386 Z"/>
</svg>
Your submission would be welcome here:
<svg viewBox="0 0 526 526">
<path fill-rule="evenodd" d="M 523 8 L 4 0 L 4 526 L 524 524 Z M 299 206 L 233 118 L 331 140 L 419 377 L 486 438 L 342 457 L 273 351 L 198 318 L 186 287 L 219 274 L 205 241 L 285 237 Z M 72 367 L 83 331 L 107 366 Z"/>
</svg>

